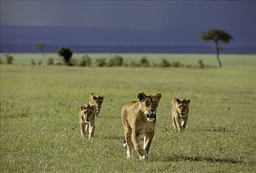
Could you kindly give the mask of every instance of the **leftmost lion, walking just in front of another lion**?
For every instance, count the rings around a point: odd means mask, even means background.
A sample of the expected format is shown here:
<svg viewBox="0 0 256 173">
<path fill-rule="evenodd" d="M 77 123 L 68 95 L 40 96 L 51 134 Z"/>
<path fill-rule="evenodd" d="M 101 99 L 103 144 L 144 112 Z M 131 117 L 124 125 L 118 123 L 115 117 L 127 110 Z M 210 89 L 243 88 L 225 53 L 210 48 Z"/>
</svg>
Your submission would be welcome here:
<svg viewBox="0 0 256 173">
<path fill-rule="evenodd" d="M 95 129 L 95 110 L 94 105 L 83 104 L 80 105 L 79 124 L 81 128 L 81 136 L 84 138 L 89 132 L 89 138 L 94 137 Z"/>
</svg>

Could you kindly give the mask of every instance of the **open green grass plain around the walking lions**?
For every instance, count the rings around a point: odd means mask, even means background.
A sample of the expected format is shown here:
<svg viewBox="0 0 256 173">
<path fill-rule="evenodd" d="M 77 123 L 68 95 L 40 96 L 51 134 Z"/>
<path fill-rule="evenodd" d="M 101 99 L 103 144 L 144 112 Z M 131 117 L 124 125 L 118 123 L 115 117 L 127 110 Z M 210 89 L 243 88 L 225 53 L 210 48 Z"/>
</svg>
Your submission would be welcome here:
<svg viewBox="0 0 256 173">
<path fill-rule="evenodd" d="M 11 54 L 1 64 L 1 173 L 255 173 L 256 56 L 221 55 L 223 68 L 47 66 L 55 54 Z M 84 54 L 74 54 L 80 59 Z M 89 54 L 92 59 L 114 54 Z M 125 61 L 145 54 L 119 54 Z M 217 65 L 215 55 L 146 54 Z M 32 66 L 30 60 L 42 60 Z M 122 105 L 137 93 L 162 93 L 150 160 L 126 159 Z M 104 95 L 95 138 L 80 138 L 79 104 L 90 92 Z M 185 132 L 172 130 L 170 102 L 191 100 Z"/>
</svg>

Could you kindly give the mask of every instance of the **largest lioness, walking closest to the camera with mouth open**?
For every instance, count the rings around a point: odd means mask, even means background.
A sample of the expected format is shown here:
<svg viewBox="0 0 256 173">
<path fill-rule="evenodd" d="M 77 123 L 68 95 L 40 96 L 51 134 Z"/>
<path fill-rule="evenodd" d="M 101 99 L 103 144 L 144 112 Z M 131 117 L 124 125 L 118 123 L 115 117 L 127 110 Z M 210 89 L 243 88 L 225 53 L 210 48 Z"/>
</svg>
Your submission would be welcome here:
<svg viewBox="0 0 256 173">
<path fill-rule="evenodd" d="M 140 159 L 148 159 L 150 145 L 154 136 L 156 109 L 162 97 L 161 93 L 146 95 L 140 92 L 139 101 L 130 101 L 124 104 L 121 110 L 121 119 L 124 127 L 125 142 L 127 144 L 127 158 L 133 157 L 133 146 Z M 140 145 L 140 134 L 144 134 L 143 149 Z"/>
</svg>

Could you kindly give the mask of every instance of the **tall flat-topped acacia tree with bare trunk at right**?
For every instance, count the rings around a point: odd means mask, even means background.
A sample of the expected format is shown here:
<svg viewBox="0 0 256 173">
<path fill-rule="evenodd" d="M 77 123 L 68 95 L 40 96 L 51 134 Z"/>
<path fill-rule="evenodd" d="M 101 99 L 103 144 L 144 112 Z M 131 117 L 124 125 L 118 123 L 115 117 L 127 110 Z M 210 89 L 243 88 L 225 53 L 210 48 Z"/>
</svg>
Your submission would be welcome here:
<svg viewBox="0 0 256 173">
<path fill-rule="evenodd" d="M 221 68 L 221 61 L 219 59 L 219 51 L 222 50 L 223 48 L 219 46 L 219 43 L 229 43 L 230 40 L 233 40 L 232 36 L 219 29 L 212 29 L 206 32 L 203 32 L 201 34 L 201 39 L 204 41 L 214 41 L 215 43 L 215 50 L 217 54 L 217 60 L 219 63 L 219 67 Z"/>
</svg>

